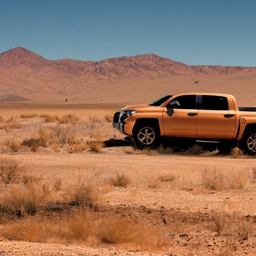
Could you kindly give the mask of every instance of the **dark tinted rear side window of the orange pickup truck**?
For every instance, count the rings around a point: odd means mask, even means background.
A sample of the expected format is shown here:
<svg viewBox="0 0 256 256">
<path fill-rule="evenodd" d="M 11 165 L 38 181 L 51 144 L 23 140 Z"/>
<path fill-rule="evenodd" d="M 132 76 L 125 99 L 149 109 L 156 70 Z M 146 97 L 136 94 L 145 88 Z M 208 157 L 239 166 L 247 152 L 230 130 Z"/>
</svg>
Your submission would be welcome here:
<svg viewBox="0 0 256 256">
<path fill-rule="evenodd" d="M 223 96 L 202 95 L 202 109 L 228 110 L 227 98 Z"/>
</svg>

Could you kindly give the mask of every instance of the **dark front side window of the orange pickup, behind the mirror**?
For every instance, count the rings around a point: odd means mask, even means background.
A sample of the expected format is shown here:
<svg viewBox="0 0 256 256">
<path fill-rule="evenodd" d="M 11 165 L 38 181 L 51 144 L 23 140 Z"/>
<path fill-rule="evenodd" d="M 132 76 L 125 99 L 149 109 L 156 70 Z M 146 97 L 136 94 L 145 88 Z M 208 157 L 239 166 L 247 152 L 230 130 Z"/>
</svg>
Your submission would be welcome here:
<svg viewBox="0 0 256 256">
<path fill-rule="evenodd" d="M 196 109 L 196 95 L 182 95 L 173 98 L 166 107 L 179 109 Z"/>
</svg>

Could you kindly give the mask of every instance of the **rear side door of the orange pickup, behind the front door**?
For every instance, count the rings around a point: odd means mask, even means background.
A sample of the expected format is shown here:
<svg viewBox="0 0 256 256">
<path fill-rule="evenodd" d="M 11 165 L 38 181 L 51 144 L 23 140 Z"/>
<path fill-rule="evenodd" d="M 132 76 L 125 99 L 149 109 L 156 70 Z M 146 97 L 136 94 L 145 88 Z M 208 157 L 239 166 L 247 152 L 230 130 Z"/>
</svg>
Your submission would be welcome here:
<svg viewBox="0 0 256 256">
<path fill-rule="evenodd" d="M 199 95 L 200 96 L 200 95 Z M 235 130 L 235 111 L 228 110 L 228 96 L 201 95 L 196 131 L 198 137 L 230 139 Z M 229 98 L 229 102 L 232 102 Z"/>
</svg>

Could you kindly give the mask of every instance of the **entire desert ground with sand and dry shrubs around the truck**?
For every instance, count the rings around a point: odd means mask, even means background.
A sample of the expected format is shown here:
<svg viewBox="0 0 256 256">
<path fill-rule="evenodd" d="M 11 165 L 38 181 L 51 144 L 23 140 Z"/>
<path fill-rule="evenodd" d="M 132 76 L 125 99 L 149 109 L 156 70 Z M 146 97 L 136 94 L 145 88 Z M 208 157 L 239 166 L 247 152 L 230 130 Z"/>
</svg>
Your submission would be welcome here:
<svg viewBox="0 0 256 256">
<path fill-rule="evenodd" d="M 0 103 L 0 255 L 255 255 L 256 158 L 104 147 L 123 105 Z"/>
</svg>

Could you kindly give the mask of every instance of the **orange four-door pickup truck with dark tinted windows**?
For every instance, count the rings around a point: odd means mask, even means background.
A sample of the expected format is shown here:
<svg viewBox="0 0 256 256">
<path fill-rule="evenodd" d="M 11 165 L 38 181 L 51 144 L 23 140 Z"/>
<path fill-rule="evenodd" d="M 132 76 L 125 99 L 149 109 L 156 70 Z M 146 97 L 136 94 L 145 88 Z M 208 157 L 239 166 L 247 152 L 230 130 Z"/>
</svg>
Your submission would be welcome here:
<svg viewBox="0 0 256 256">
<path fill-rule="evenodd" d="M 238 107 L 229 94 L 182 93 L 125 106 L 114 114 L 113 127 L 133 137 L 140 148 L 175 137 L 219 142 L 223 153 L 238 145 L 256 154 L 256 108 Z"/>
</svg>

